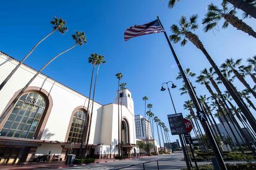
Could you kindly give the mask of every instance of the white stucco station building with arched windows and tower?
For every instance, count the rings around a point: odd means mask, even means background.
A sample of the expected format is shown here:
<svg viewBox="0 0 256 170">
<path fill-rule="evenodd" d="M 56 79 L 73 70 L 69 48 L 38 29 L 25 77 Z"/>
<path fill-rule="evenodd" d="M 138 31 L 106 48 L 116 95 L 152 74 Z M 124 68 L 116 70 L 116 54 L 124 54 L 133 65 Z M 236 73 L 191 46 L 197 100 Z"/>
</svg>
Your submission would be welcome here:
<svg viewBox="0 0 256 170">
<path fill-rule="evenodd" d="M 0 52 L 0 83 L 19 62 Z M 22 65 L 0 91 L 0 115 L 17 93 L 35 75 L 36 71 Z M 122 100 L 123 153 L 133 153 L 136 146 L 134 102 L 128 89 L 119 91 Z M 92 100 L 91 100 L 92 101 Z M 79 152 L 88 134 L 88 122 L 92 119 L 89 138 L 89 155 L 96 158 L 113 158 L 118 153 L 117 102 L 108 105 L 94 102 L 93 116 L 87 113 L 88 97 L 64 84 L 40 74 L 20 97 L 15 107 L 0 123 L 0 163 L 32 161 L 39 155 L 59 155 L 64 160 L 70 152 Z M 90 103 L 92 107 L 92 102 Z M 86 126 L 83 126 L 86 124 Z M 83 145 L 83 148 L 85 144 Z M 83 154 L 83 151 L 82 151 Z"/>
</svg>

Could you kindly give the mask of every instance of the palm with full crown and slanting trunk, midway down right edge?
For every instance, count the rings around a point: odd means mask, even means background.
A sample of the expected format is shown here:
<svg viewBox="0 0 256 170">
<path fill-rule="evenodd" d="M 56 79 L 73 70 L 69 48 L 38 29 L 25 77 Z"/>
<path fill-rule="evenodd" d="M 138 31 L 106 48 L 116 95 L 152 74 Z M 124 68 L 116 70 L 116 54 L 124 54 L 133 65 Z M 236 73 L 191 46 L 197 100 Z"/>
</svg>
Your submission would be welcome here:
<svg viewBox="0 0 256 170">
<path fill-rule="evenodd" d="M 249 83 L 247 83 L 244 76 L 241 73 L 239 73 L 239 71 L 237 70 L 237 67 L 241 64 L 241 60 L 242 59 L 237 59 L 236 61 L 233 60 L 232 58 L 226 59 L 226 61 L 221 65 L 221 68 L 223 68 L 223 70 L 233 71 L 233 73 L 237 77 L 237 79 L 239 79 L 239 81 L 241 81 L 241 83 L 244 84 L 244 86 L 250 91 L 250 93 L 252 95 L 254 95 L 254 97 L 256 99 L 256 93 L 250 87 Z"/>
</svg>

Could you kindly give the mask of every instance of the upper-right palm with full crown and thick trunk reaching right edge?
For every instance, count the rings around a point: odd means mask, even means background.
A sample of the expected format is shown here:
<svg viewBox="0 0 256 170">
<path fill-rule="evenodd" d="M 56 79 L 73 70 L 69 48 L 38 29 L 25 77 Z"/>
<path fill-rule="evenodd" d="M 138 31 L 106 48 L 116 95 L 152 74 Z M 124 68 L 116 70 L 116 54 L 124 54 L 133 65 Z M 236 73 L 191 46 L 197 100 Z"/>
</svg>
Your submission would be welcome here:
<svg viewBox="0 0 256 170">
<path fill-rule="evenodd" d="M 244 31 L 244 33 L 249 34 L 250 36 L 253 36 L 256 38 L 256 33 L 246 23 L 244 23 L 242 20 L 236 17 L 236 10 L 233 9 L 233 7 L 229 8 L 228 3 L 226 1 L 223 1 L 221 4 L 221 9 L 218 8 L 218 6 L 215 6 L 214 4 L 208 5 L 208 12 L 205 14 L 205 18 L 203 18 L 203 25 L 204 31 L 207 32 L 215 26 L 218 25 L 218 22 L 224 18 L 224 23 L 222 28 L 227 28 L 229 24 L 237 28 L 237 30 Z"/>
</svg>

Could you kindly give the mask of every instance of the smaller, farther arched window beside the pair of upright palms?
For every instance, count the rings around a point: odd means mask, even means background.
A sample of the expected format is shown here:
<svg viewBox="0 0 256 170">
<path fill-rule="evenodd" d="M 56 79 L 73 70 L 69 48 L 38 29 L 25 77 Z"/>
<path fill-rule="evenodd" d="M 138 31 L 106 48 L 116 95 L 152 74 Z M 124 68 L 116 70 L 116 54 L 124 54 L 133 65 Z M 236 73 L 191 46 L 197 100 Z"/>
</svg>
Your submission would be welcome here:
<svg viewBox="0 0 256 170">
<path fill-rule="evenodd" d="M 85 123 L 85 111 L 77 110 L 73 116 L 67 142 L 80 143 Z"/>
</svg>

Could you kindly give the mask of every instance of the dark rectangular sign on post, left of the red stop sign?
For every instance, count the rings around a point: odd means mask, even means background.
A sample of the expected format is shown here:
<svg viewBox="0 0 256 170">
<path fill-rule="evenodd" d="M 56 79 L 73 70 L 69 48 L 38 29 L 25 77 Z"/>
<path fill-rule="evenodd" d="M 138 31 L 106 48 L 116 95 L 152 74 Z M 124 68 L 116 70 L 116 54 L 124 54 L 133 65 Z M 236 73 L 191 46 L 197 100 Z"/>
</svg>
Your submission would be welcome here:
<svg viewBox="0 0 256 170">
<path fill-rule="evenodd" d="M 182 113 L 167 115 L 172 135 L 187 134 Z"/>
</svg>

